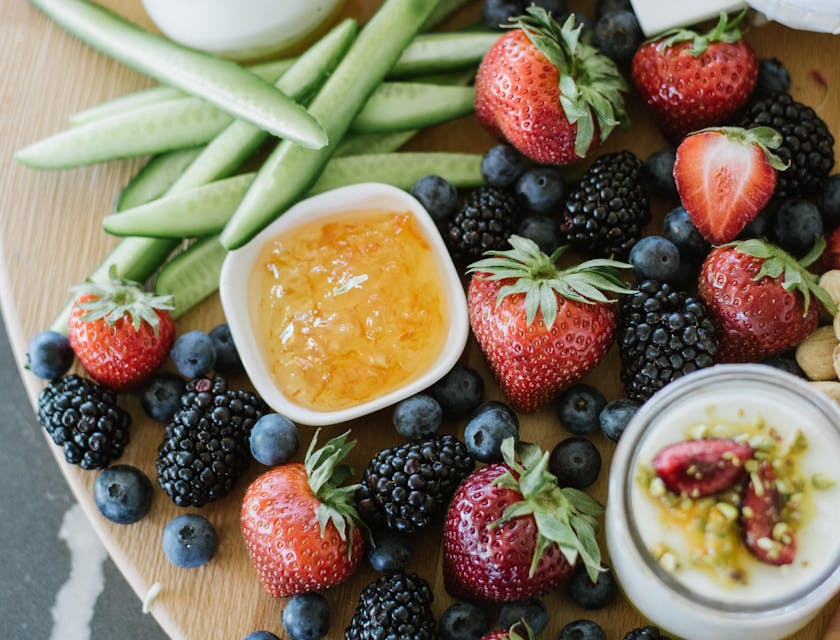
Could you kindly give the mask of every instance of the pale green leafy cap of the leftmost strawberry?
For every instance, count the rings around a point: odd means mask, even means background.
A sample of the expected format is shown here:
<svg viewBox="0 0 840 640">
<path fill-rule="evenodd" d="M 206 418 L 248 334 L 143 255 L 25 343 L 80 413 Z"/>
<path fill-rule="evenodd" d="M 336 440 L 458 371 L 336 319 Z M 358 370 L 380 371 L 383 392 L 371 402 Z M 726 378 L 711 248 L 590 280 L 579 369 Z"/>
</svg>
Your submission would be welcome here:
<svg viewBox="0 0 840 640">
<path fill-rule="evenodd" d="M 77 302 L 84 314 L 82 322 L 93 322 L 104 319 L 110 326 L 128 315 L 135 330 L 140 329 L 143 322 L 149 323 L 157 335 L 160 321 L 156 311 L 172 311 L 175 305 L 172 296 L 156 296 L 143 289 L 143 285 L 133 280 L 117 277 L 116 267 L 111 266 L 107 282 L 92 282 L 90 280 L 73 287 L 76 296 L 93 296 L 90 300 Z"/>
</svg>

